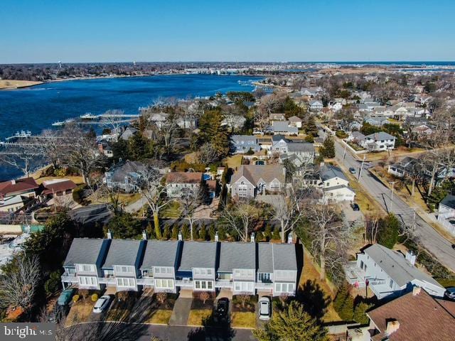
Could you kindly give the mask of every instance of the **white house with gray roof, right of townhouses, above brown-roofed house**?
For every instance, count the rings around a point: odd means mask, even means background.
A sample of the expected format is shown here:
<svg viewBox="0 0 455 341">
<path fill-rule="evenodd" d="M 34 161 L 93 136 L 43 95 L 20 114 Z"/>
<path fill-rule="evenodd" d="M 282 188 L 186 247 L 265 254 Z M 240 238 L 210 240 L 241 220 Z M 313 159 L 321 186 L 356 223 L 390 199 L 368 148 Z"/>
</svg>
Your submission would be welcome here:
<svg viewBox="0 0 455 341">
<path fill-rule="evenodd" d="M 357 260 L 346 266 L 346 279 L 357 287 L 368 287 L 378 299 L 401 296 L 414 286 L 432 296 L 443 297 L 446 289 L 414 265 L 416 255 L 387 249 L 374 244 L 357 254 Z"/>
</svg>

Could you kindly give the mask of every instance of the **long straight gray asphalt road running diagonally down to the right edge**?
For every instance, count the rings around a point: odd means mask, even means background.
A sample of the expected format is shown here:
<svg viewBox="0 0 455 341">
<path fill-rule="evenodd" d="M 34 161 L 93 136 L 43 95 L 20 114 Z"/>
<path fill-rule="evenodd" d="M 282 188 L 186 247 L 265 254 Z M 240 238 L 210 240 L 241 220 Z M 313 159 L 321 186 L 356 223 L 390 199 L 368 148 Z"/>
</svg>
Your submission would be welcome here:
<svg viewBox="0 0 455 341">
<path fill-rule="evenodd" d="M 343 161 L 344 146 L 338 141 L 335 141 L 335 149 L 336 160 L 339 163 L 343 163 L 346 168 L 355 168 L 355 176 L 358 177 L 362 162 L 354 158 L 347 148 Z M 364 167 L 360 175 L 359 182 L 387 212 L 394 213 L 397 217 L 400 217 L 402 222 L 412 226 L 414 210 L 396 194 L 393 195 L 393 200 L 391 201 L 392 191 L 383 185 L 380 180 L 377 180 L 366 167 Z M 442 237 L 431 225 L 422 220 L 418 214 L 415 215 L 415 234 L 419 237 L 425 249 L 433 256 L 436 256 L 441 264 L 455 271 L 455 250 L 452 249 L 451 242 Z"/>
</svg>

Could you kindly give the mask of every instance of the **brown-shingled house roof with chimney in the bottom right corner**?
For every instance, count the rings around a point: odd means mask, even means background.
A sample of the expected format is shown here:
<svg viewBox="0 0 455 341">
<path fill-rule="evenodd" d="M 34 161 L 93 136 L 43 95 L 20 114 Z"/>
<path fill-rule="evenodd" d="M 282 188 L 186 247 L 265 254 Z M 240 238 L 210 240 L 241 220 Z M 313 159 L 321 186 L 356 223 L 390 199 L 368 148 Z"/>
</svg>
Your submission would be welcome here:
<svg viewBox="0 0 455 341">
<path fill-rule="evenodd" d="M 367 315 L 370 334 L 362 340 L 454 340 L 455 302 L 433 298 L 422 288 L 415 287 L 405 296 L 369 310 Z"/>
</svg>

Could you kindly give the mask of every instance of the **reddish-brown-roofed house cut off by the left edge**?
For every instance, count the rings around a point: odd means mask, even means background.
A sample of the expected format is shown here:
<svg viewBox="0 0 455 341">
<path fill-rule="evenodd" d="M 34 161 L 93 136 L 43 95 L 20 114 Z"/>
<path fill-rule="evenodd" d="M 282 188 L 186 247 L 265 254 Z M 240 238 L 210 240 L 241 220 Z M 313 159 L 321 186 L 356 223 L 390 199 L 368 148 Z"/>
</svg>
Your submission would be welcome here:
<svg viewBox="0 0 455 341">
<path fill-rule="evenodd" d="M 0 183 L 0 212 L 16 212 L 36 197 L 39 185 L 33 178 Z"/>
</svg>

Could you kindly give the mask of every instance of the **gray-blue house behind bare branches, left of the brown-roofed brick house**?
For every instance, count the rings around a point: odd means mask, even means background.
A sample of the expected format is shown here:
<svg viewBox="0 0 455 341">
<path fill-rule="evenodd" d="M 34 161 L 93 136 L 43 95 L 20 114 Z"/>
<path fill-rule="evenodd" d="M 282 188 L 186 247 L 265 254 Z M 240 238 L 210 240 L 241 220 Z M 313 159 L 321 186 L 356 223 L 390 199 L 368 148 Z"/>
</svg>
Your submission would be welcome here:
<svg viewBox="0 0 455 341">
<path fill-rule="evenodd" d="M 123 190 L 125 193 L 137 192 L 146 167 L 139 161 L 124 161 L 109 168 L 103 182 L 112 190 Z"/>
</svg>

